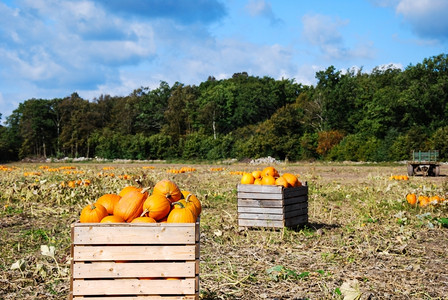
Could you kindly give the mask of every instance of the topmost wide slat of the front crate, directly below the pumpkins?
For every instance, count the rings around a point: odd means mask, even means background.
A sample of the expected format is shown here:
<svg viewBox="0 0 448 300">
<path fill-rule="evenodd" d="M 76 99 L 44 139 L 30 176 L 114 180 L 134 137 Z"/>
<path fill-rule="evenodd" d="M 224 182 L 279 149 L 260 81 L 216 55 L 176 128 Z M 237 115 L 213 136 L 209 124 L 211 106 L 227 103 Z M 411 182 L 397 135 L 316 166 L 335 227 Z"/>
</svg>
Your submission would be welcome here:
<svg viewBox="0 0 448 300">
<path fill-rule="evenodd" d="M 160 226 L 78 226 L 73 244 L 194 244 L 195 227 Z"/>
</svg>

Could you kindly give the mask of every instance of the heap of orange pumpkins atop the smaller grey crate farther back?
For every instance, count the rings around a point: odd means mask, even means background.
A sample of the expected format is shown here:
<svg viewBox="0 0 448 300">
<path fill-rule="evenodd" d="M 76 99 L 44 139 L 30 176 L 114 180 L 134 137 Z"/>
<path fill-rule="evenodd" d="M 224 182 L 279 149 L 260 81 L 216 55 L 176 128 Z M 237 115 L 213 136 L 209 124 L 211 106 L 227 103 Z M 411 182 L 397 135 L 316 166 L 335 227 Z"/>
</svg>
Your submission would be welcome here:
<svg viewBox="0 0 448 300">
<path fill-rule="evenodd" d="M 280 175 L 272 166 L 266 167 L 262 171 L 245 172 L 241 177 L 241 184 L 282 185 L 285 188 L 302 185 L 296 175 L 291 173 Z"/>
</svg>

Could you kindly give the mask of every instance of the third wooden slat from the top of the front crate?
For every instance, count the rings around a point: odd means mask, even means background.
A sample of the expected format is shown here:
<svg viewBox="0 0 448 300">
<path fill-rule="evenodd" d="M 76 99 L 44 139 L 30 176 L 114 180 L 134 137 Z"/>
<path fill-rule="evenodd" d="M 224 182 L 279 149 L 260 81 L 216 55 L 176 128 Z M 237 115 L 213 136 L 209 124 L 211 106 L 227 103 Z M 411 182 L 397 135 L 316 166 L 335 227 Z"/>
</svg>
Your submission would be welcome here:
<svg viewBox="0 0 448 300">
<path fill-rule="evenodd" d="M 75 263 L 73 278 L 131 278 L 131 277 L 195 277 L 196 262 L 182 263 Z"/>
</svg>

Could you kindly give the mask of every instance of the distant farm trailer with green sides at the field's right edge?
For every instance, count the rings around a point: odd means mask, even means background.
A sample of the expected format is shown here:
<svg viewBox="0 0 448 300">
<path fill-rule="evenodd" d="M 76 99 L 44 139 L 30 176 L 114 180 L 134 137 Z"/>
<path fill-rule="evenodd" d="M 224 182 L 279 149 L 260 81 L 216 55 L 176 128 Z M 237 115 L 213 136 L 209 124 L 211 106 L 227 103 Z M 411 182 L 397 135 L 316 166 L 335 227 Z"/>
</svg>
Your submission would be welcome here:
<svg viewBox="0 0 448 300">
<path fill-rule="evenodd" d="M 439 150 L 412 151 L 412 160 L 408 161 L 408 175 L 439 176 Z"/>
</svg>

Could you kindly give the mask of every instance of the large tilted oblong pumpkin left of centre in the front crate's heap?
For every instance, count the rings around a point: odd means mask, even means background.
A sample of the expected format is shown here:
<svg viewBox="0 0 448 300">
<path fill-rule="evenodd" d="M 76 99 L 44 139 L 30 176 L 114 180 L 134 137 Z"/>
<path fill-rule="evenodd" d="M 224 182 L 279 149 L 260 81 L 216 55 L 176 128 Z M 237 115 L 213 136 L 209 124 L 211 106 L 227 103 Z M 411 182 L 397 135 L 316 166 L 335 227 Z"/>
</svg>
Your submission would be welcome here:
<svg viewBox="0 0 448 300">
<path fill-rule="evenodd" d="M 147 197 L 146 190 L 132 190 L 126 193 L 115 205 L 114 215 L 122 217 L 126 222 L 131 222 L 143 213 L 143 203 Z"/>
</svg>

